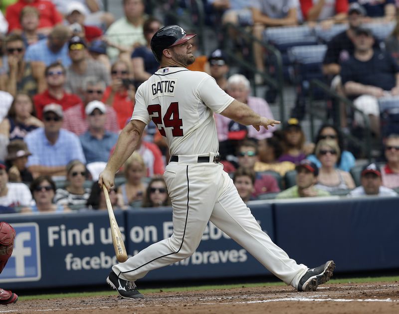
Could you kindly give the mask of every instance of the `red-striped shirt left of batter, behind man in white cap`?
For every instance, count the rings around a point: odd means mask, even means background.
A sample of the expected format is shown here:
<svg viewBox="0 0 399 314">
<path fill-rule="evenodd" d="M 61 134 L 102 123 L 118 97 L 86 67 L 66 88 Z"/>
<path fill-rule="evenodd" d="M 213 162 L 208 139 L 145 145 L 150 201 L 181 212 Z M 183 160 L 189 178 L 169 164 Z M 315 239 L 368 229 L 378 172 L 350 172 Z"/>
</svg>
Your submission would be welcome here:
<svg viewBox="0 0 399 314">
<path fill-rule="evenodd" d="M 119 133 L 120 129 L 115 110 L 112 107 L 107 106 L 106 115 L 107 120 L 105 121 L 105 130 Z M 89 129 L 89 124 L 82 104 L 73 106 L 64 111 L 62 128 L 75 133 L 77 136 L 82 135 Z"/>
</svg>

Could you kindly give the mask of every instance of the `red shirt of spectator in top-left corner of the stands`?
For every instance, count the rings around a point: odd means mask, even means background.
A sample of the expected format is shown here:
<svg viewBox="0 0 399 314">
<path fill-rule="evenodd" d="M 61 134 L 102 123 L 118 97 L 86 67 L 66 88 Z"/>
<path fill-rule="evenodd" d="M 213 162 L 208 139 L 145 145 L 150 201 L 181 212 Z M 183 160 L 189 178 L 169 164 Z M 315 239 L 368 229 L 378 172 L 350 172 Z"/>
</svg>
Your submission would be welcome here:
<svg viewBox="0 0 399 314">
<path fill-rule="evenodd" d="M 40 33 L 48 35 L 51 28 L 62 23 L 62 15 L 57 11 L 55 5 L 48 0 L 18 0 L 18 2 L 11 4 L 5 11 L 5 18 L 8 21 L 8 32 L 20 32 L 22 27 L 19 22 L 19 15 L 21 10 L 30 5 L 37 8 L 40 12 L 39 29 Z"/>
</svg>

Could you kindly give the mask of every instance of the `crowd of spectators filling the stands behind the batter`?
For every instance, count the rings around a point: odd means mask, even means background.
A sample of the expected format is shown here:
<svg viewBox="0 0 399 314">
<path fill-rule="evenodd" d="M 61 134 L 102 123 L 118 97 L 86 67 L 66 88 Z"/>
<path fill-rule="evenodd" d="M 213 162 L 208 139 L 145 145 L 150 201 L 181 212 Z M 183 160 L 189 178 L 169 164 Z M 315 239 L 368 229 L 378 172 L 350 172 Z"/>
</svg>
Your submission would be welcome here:
<svg viewBox="0 0 399 314">
<path fill-rule="evenodd" d="M 1 1 L 0 213 L 106 209 L 96 180 L 132 116 L 136 89 L 159 68 L 149 43 L 167 19 L 151 16 L 146 2 L 121 0 L 124 15 L 115 20 L 101 0 Z M 361 117 L 349 119 L 353 112 L 342 104 L 341 126 L 322 125 L 314 141 L 306 139 L 301 115 L 282 121 L 281 128 L 256 132 L 215 114 L 221 162 L 244 201 L 398 195 L 399 131 L 387 128 L 379 103 L 399 95 L 399 22 L 383 41 L 366 25 L 399 21 L 399 1 L 203 2 L 207 23 L 239 25 L 260 40 L 270 27 L 328 31 L 347 25 L 328 41 L 322 73 L 369 116 L 373 136 L 384 147 L 375 162 L 358 162 L 345 133 L 348 123 L 362 125 Z M 240 49 L 239 38 L 227 34 Z M 268 102 L 251 95 L 252 77 L 239 69 L 231 73 L 221 46 L 200 55 L 195 39 L 191 70 L 207 72 L 230 96 L 274 119 Z M 254 41 L 252 51 L 256 69 L 266 71 L 264 48 Z M 259 75 L 254 82 L 265 84 Z M 151 123 L 116 177 L 114 207 L 169 206 L 162 178 L 169 158 Z"/>
</svg>

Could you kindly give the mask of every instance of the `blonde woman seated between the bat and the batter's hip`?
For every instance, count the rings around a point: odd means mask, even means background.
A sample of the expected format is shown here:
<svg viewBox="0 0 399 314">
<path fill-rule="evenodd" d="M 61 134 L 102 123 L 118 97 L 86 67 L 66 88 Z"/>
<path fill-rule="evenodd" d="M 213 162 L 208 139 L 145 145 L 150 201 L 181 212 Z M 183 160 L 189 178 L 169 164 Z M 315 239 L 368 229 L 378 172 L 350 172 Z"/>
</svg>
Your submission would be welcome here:
<svg viewBox="0 0 399 314">
<path fill-rule="evenodd" d="M 143 183 L 146 176 L 146 166 L 143 158 L 134 152 L 124 165 L 126 183 L 118 187 L 119 206 L 126 207 L 133 202 L 141 201 L 146 192 L 147 185 Z"/>
</svg>

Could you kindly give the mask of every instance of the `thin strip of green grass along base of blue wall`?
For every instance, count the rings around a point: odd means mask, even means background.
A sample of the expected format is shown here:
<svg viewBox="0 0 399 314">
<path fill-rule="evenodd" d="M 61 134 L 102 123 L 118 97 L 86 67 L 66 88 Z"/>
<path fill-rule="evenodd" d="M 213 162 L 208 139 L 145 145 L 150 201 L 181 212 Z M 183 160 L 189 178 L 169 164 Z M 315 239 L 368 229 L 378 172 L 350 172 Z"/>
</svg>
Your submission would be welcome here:
<svg viewBox="0 0 399 314">
<path fill-rule="evenodd" d="M 392 277 L 365 277 L 365 278 L 345 278 L 345 279 L 332 279 L 329 281 L 331 284 L 355 284 L 355 283 L 376 283 L 376 282 L 399 282 L 399 276 Z M 182 292 L 182 291 L 198 291 L 198 290 L 218 290 L 218 289 L 231 289 L 231 288 L 250 288 L 250 287 L 275 287 L 284 285 L 282 282 L 275 283 L 246 283 L 246 284 L 232 284 L 232 285 L 210 285 L 210 286 L 196 286 L 184 288 L 158 288 L 158 289 L 140 289 L 143 294 L 154 292 Z M 96 296 L 110 296 L 117 295 L 115 291 L 97 291 L 97 292 L 80 292 L 80 293 L 65 293 L 65 294 L 46 294 L 35 296 L 18 296 L 18 299 L 34 300 L 34 299 L 57 299 L 57 298 L 74 298 L 74 297 L 96 297 Z"/>
</svg>

